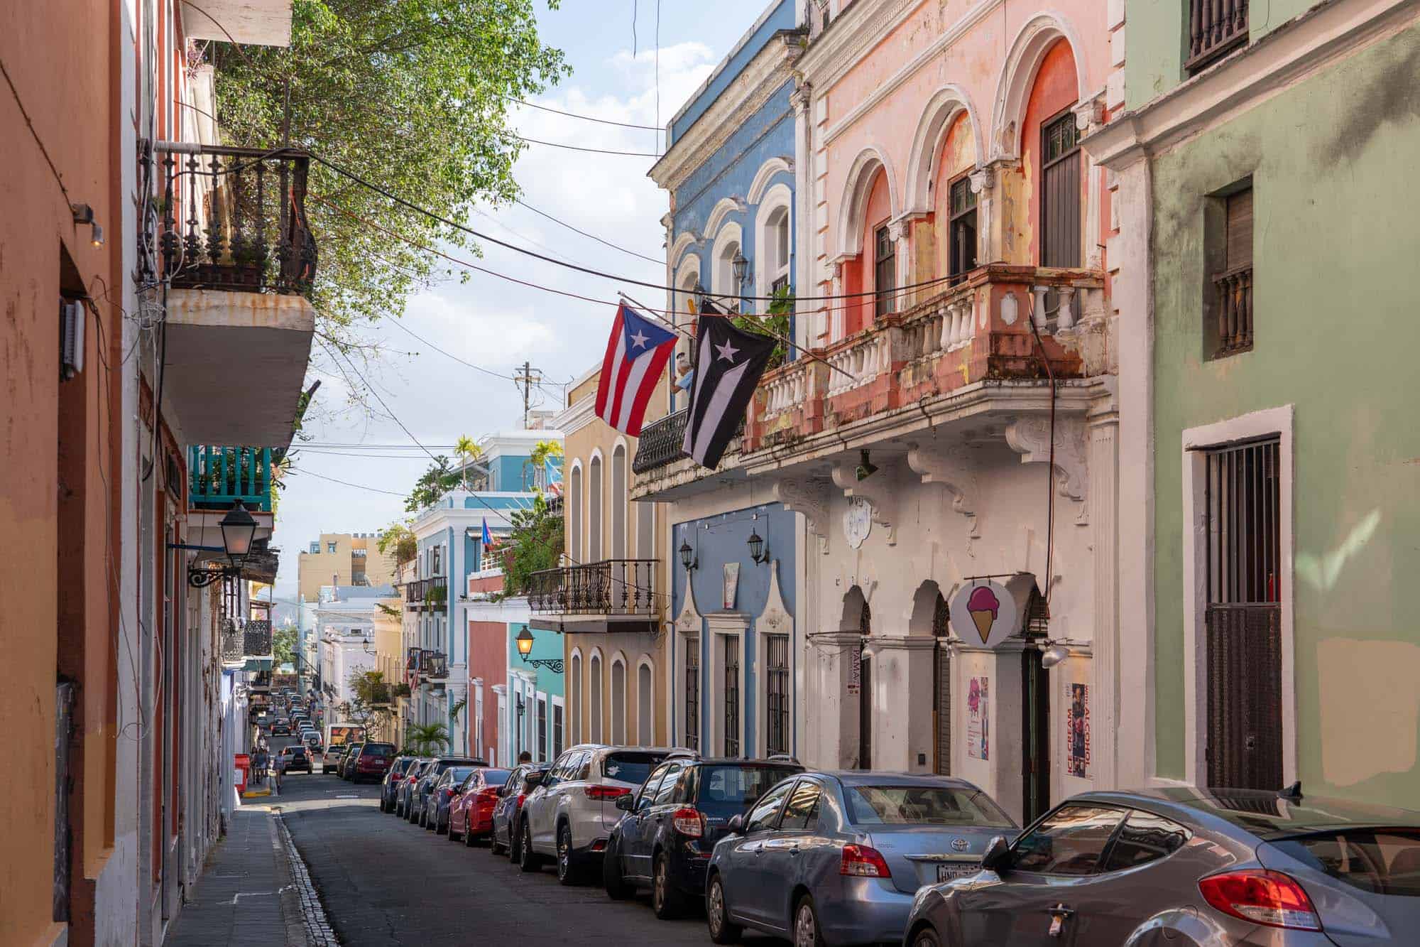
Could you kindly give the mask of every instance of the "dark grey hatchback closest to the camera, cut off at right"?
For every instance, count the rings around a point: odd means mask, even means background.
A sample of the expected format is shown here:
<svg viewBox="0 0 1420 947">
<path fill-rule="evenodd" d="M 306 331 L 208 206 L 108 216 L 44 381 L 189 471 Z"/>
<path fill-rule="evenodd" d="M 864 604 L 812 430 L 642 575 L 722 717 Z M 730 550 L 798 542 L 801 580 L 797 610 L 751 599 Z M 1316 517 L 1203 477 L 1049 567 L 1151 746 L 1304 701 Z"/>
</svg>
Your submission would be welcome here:
<svg viewBox="0 0 1420 947">
<path fill-rule="evenodd" d="M 907 924 L 912 947 L 1414 944 L 1420 812 L 1299 785 L 1086 792 L 923 890 Z"/>
</svg>

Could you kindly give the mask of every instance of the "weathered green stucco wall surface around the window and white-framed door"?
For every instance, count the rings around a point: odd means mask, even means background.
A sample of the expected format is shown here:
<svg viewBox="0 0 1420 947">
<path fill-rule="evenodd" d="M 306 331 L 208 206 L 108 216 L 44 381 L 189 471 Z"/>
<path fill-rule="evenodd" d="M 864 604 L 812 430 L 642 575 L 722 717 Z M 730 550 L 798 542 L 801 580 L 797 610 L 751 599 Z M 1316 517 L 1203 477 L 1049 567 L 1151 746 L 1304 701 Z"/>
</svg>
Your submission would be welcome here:
<svg viewBox="0 0 1420 947">
<path fill-rule="evenodd" d="M 1130 6 L 1130 63 L 1139 48 Z M 1164 4 L 1160 4 L 1164 6 Z M 1279 7 L 1274 4 L 1272 17 Z M 1265 7 L 1264 7 L 1265 10 Z M 1140 17 L 1143 18 L 1143 17 Z M 1181 776 L 1186 428 L 1295 405 L 1298 776 L 1413 805 L 1420 434 L 1410 283 L 1420 30 L 1387 38 L 1154 165 L 1156 738 Z M 1251 353 L 1203 360 L 1203 195 L 1252 176 Z"/>
</svg>

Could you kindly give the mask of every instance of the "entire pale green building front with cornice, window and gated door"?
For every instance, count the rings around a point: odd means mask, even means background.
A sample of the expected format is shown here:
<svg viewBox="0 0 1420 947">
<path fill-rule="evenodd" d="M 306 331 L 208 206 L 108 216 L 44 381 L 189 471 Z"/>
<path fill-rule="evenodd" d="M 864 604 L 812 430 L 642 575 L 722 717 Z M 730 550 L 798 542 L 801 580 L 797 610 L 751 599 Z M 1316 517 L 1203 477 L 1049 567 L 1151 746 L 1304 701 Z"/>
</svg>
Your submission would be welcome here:
<svg viewBox="0 0 1420 947">
<path fill-rule="evenodd" d="M 1122 782 L 1413 806 L 1417 4 L 1123 16 Z"/>
</svg>

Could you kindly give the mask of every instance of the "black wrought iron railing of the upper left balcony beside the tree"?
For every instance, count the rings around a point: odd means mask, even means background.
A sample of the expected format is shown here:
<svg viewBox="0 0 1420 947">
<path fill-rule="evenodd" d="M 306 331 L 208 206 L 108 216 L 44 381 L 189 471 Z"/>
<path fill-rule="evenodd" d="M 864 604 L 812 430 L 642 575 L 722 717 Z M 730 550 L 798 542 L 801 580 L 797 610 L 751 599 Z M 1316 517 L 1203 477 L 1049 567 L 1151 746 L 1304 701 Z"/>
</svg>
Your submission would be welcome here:
<svg viewBox="0 0 1420 947">
<path fill-rule="evenodd" d="M 159 142 L 153 154 L 159 206 L 146 220 L 143 274 L 165 276 L 176 289 L 310 291 L 315 277 L 315 239 L 305 218 L 310 164 L 310 155 L 294 148 Z M 153 246 L 160 262 L 151 259 Z"/>
</svg>

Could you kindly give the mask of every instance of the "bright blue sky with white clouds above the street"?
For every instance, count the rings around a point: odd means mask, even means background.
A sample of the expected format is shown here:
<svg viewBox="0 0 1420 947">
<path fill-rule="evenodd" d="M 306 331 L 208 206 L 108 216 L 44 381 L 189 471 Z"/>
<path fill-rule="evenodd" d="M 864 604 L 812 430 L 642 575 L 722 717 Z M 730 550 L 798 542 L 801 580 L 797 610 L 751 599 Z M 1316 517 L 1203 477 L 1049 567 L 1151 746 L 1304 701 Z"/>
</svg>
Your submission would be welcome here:
<svg viewBox="0 0 1420 947">
<path fill-rule="evenodd" d="M 565 53 L 572 74 L 531 101 L 578 115 L 663 127 L 770 0 L 562 0 L 558 10 L 534 1 L 544 41 Z M 660 139 L 650 129 L 523 107 L 513 127 L 527 138 L 613 151 L 652 154 Z M 655 263 L 572 233 L 517 205 L 479 209 L 467 223 L 548 256 L 659 284 L 665 279 L 660 218 L 669 198 L 646 176 L 652 164 L 645 156 L 528 145 L 514 176 L 525 203 Z M 652 290 L 638 293 L 498 246 L 484 245 L 483 253 L 480 266 L 542 286 L 596 299 L 615 299 L 616 290 L 625 289 L 649 306 L 663 301 Z M 385 408 L 368 395 L 372 411 L 348 407 L 348 380 L 318 375 L 317 417 L 308 425 L 312 437 L 305 446 L 293 445 L 294 471 L 280 496 L 271 542 L 283 550 L 277 596 L 294 597 L 297 553 L 321 532 L 375 532 L 403 516 L 405 493 L 429 466 L 429 456 L 413 445 L 410 434 L 435 454 L 452 454 L 460 435 L 477 439 L 521 428 L 523 395 L 511 375 L 524 361 L 545 378 L 534 388 L 534 402 L 562 407 L 562 384 L 599 360 L 612 316 L 608 306 L 474 273 L 467 282 L 452 280 L 412 296 L 402 319 L 381 320 L 364 330 L 382 354 L 361 371 Z M 354 375 L 349 381 L 362 384 Z"/>
</svg>

